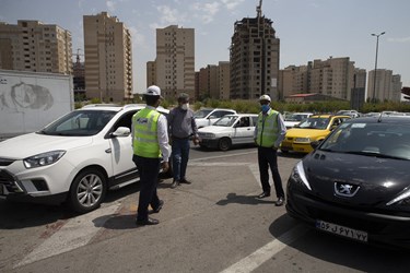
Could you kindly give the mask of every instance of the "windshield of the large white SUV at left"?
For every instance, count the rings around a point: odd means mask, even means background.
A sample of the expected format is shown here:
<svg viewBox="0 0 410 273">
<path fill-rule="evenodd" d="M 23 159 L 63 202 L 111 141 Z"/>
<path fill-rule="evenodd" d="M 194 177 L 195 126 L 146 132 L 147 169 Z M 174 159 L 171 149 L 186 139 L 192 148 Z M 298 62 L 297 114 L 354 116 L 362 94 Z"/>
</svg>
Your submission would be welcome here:
<svg viewBox="0 0 410 273">
<path fill-rule="evenodd" d="M 94 135 L 116 114 L 116 111 L 109 110 L 77 110 L 56 120 L 37 133 L 65 136 Z"/>
</svg>

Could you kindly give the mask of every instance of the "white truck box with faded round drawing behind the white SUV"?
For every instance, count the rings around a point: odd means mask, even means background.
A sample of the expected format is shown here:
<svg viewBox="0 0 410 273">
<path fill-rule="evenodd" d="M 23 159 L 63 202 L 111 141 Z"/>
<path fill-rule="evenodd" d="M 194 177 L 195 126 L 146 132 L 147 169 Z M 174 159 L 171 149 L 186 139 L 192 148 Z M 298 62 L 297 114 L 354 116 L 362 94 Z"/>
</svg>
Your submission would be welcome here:
<svg viewBox="0 0 410 273">
<path fill-rule="evenodd" d="M 37 131 L 73 109 L 72 75 L 0 70 L 0 140 Z"/>
</svg>

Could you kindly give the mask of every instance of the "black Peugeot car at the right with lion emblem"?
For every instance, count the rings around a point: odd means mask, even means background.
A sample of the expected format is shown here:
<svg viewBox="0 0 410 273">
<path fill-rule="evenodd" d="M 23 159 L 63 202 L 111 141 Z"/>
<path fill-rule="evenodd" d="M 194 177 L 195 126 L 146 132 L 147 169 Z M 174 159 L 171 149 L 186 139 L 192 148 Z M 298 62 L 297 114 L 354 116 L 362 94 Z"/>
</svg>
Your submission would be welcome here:
<svg viewBox="0 0 410 273">
<path fill-rule="evenodd" d="M 298 162 L 286 211 L 365 244 L 410 247 L 410 118 L 345 120 Z"/>
</svg>

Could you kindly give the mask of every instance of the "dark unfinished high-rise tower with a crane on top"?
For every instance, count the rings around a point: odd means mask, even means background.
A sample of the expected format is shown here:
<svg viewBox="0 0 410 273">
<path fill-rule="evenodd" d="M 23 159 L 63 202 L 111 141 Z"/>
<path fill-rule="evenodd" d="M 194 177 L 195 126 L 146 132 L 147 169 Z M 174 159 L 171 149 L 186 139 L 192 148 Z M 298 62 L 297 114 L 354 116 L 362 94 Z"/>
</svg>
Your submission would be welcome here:
<svg viewBox="0 0 410 273">
<path fill-rule="evenodd" d="M 279 38 L 272 21 L 261 15 L 261 0 L 256 17 L 235 22 L 231 41 L 231 98 L 256 99 L 262 94 L 273 100 L 278 94 Z"/>
</svg>

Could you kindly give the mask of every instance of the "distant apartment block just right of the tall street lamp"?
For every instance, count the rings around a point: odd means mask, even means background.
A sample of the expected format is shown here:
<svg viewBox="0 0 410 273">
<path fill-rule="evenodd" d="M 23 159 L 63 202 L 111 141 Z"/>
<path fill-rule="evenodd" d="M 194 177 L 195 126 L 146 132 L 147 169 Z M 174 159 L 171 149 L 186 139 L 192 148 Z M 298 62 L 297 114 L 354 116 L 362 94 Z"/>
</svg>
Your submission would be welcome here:
<svg viewBox="0 0 410 273">
<path fill-rule="evenodd" d="M 377 69 L 375 81 L 374 71 L 375 70 L 368 71 L 367 98 L 371 100 L 374 98 L 379 102 L 400 102 L 402 87 L 401 76 L 394 75 L 391 70 Z"/>
</svg>

